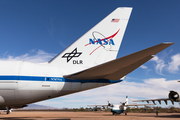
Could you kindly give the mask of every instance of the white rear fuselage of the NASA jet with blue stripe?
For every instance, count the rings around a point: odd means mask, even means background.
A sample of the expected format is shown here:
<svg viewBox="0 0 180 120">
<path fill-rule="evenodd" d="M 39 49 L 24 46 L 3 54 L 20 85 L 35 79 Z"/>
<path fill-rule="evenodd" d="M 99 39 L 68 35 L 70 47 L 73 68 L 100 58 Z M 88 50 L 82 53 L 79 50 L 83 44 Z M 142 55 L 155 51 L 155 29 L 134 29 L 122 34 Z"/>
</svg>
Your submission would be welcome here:
<svg viewBox="0 0 180 120">
<path fill-rule="evenodd" d="M 0 106 L 25 105 L 96 88 L 111 80 L 69 80 L 63 68 L 23 61 L 0 61 Z"/>
</svg>

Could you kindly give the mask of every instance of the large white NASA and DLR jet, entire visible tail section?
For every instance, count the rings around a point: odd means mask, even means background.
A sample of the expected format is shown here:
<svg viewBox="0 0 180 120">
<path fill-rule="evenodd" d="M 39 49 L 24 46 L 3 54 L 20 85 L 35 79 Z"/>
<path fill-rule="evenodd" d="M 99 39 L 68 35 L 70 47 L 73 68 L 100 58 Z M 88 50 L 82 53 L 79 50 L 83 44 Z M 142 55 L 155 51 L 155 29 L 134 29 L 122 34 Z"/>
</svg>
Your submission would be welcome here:
<svg viewBox="0 0 180 120">
<path fill-rule="evenodd" d="M 0 61 L 0 108 L 27 104 L 112 83 L 173 43 L 116 59 L 132 8 L 117 8 L 47 64 Z"/>
</svg>

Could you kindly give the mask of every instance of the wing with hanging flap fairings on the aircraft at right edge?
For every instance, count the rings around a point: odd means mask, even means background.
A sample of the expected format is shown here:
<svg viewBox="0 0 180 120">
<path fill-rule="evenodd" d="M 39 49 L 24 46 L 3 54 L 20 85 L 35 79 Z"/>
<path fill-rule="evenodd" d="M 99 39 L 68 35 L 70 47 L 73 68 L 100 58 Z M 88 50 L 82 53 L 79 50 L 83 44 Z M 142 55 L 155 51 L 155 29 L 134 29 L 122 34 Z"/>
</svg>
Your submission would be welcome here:
<svg viewBox="0 0 180 120">
<path fill-rule="evenodd" d="M 158 101 L 159 104 L 161 104 L 161 101 L 164 101 L 167 105 L 167 101 L 170 100 L 169 98 L 160 98 L 160 99 L 149 99 L 149 100 L 135 100 L 133 102 L 153 102 L 155 104 L 155 101 Z M 170 100 L 172 102 L 172 104 L 174 105 L 174 102 L 172 100 Z"/>
</svg>

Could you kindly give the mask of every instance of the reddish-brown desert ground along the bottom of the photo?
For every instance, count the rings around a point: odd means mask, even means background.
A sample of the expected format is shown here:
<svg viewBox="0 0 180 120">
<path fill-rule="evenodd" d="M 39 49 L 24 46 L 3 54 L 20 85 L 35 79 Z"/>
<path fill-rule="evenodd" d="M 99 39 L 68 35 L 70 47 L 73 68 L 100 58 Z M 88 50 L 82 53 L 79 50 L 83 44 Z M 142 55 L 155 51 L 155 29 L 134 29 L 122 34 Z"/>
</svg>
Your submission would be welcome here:
<svg viewBox="0 0 180 120">
<path fill-rule="evenodd" d="M 2 113 L 0 120 L 179 120 L 180 113 L 128 113 L 113 116 L 110 112 L 14 111 Z"/>
</svg>

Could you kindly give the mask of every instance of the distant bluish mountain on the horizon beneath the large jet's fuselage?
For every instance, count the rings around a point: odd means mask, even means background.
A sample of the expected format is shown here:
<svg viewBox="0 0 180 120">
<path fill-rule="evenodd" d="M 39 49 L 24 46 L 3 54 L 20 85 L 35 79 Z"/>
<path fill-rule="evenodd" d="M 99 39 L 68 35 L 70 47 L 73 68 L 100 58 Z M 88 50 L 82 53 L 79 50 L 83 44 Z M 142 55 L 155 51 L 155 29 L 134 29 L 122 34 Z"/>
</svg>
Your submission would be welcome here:
<svg viewBox="0 0 180 120">
<path fill-rule="evenodd" d="M 29 109 L 29 110 L 32 110 L 32 109 L 38 109 L 38 110 L 47 110 L 47 109 L 59 109 L 59 108 L 56 108 L 56 107 L 50 107 L 50 106 L 45 106 L 45 105 L 38 105 L 38 104 L 29 104 L 28 107 L 24 107 L 22 109 Z"/>
</svg>

